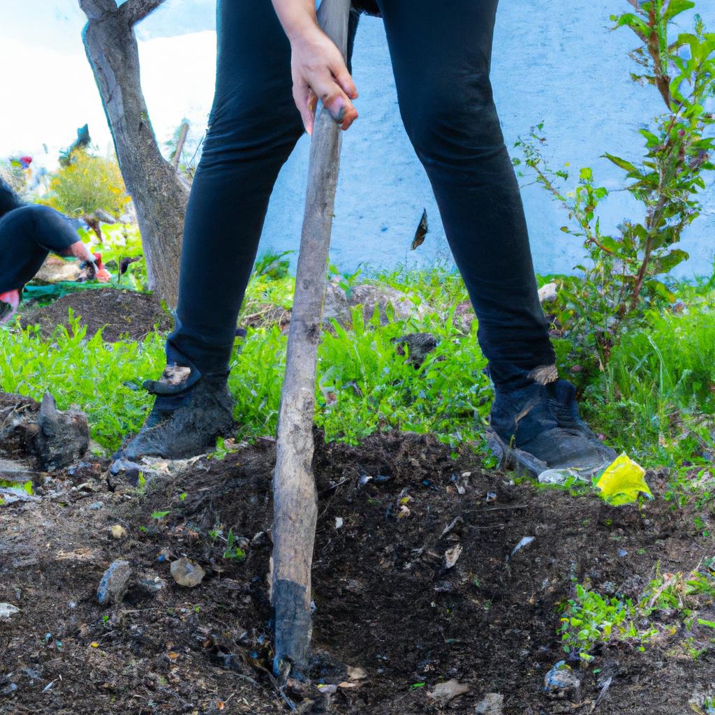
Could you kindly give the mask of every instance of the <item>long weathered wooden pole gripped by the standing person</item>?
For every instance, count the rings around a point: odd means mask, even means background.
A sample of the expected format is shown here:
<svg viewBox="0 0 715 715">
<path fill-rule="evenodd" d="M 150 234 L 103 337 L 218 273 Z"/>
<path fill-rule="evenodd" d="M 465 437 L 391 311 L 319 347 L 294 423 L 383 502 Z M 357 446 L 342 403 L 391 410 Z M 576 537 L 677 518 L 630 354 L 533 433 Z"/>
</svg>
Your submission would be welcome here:
<svg viewBox="0 0 715 715">
<path fill-rule="evenodd" d="M 346 54 L 350 0 L 322 0 L 318 19 Z M 300 674 L 310 651 L 310 571 L 317 494 L 312 474 L 315 370 L 325 300 L 332 211 L 340 160 L 340 128 L 321 107 L 310 143 L 305 216 L 278 413 L 273 478 L 273 573 L 276 676 Z"/>
</svg>

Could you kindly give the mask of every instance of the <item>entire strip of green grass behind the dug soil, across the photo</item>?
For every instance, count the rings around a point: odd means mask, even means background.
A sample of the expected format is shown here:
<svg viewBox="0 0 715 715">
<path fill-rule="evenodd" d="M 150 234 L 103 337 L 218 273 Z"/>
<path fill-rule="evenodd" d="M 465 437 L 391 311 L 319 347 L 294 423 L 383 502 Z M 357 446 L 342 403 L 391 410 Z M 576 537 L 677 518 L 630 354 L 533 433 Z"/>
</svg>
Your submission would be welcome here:
<svg viewBox="0 0 715 715">
<path fill-rule="evenodd" d="M 249 286 L 244 315 L 265 306 L 290 309 L 294 280 L 277 263 L 266 263 Z M 454 448 L 483 448 L 491 390 L 476 325 L 464 335 L 453 324 L 455 305 L 468 299 L 460 277 L 445 267 L 342 276 L 346 285 L 376 280 L 410 295 L 409 320 L 381 325 L 355 310 L 350 327 L 335 325 L 318 351 L 316 423 L 329 440 L 355 443 L 375 430 L 398 428 L 434 433 Z M 675 468 L 676 479 L 698 473 L 715 450 L 715 285 L 674 287 L 681 312 L 651 313 L 613 349 L 606 371 L 584 391 L 582 409 L 593 428 L 618 450 L 649 467 Z M 426 308 L 426 310 L 425 310 Z M 437 350 L 419 368 L 399 355 L 392 340 L 408 332 L 431 332 Z M 286 336 L 276 325 L 249 330 L 232 356 L 230 389 L 237 400 L 240 438 L 275 433 L 285 370 Z M 136 431 L 151 398 L 122 383 L 156 378 L 164 365 L 163 340 L 108 344 L 85 340 L 72 323 L 51 340 L 32 329 L 0 330 L 0 387 L 40 399 L 50 390 L 60 408 L 79 405 L 92 436 L 116 448 Z M 568 377 L 568 365 L 565 366 Z M 688 472 L 687 470 L 690 470 Z M 694 471 L 693 471 L 694 470 Z M 702 477 L 702 475 L 701 475 Z"/>
</svg>

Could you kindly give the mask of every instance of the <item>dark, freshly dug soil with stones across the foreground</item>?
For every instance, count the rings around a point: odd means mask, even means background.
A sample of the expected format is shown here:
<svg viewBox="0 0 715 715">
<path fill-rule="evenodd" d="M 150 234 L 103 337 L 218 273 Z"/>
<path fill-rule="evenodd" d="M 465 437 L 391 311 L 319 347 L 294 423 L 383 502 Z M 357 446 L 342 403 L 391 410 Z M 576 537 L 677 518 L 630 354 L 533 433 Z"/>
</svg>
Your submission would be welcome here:
<svg viewBox="0 0 715 715">
<path fill-rule="evenodd" d="M 0 601 L 20 609 L 0 623 L 0 713 L 287 712 L 267 672 L 274 465 L 275 444 L 259 440 L 144 492 L 86 463 L 39 487 L 41 503 L 0 509 Z M 299 711 L 471 715 L 491 693 L 503 715 L 674 714 L 711 686 L 711 633 L 674 618 L 645 652 L 621 641 L 572 663 L 581 687 L 566 699 L 543 693 L 566 657 L 557 606 L 575 583 L 637 598 L 656 564 L 688 572 L 712 554 L 699 514 L 672 508 L 657 475 L 654 501 L 614 508 L 400 433 L 318 444 L 314 468 L 312 677 L 338 686 Z M 113 538 L 117 525 L 127 533 Z M 196 588 L 169 573 L 181 556 L 206 572 Z M 101 608 L 97 584 L 118 558 L 133 585 Z M 450 680 L 468 690 L 430 699 Z"/>
</svg>

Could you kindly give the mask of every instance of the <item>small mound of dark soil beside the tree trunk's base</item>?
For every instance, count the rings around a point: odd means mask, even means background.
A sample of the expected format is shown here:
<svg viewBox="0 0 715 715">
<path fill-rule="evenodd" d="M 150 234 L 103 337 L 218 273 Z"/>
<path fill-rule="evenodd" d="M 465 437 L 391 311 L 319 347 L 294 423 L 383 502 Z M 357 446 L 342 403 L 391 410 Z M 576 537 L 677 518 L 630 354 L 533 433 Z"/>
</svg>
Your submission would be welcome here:
<svg viewBox="0 0 715 715">
<path fill-rule="evenodd" d="M 122 336 L 142 340 L 156 326 L 160 331 L 172 328 L 172 317 L 159 299 L 149 293 L 106 288 L 69 293 L 47 307 L 21 317 L 23 327 L 39 325 L 41 335 L 49 337 L 58 325 L 69 327 L 69 309 L 87 326 L 87 337 L 102 330 L 104 340 L 117 342 Z"/>
</svg>

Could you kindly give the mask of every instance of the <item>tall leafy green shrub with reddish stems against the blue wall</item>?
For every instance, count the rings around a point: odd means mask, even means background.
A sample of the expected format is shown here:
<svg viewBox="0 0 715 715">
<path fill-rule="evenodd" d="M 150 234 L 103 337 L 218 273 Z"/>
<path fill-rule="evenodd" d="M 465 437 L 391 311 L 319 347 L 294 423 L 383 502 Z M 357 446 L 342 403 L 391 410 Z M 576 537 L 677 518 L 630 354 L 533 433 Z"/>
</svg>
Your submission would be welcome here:
<svg viewBox="0 0 715 715">
<path fill-rule="evenodd" d="M 705 31 L 699 16 L 693 32 L 671 32 L 674 18 L 695 6 L 690 0 L 631 4 L 633 13 L 611 19 L 641 41 L 631 56 L 643 74 L 631 77 L 656 88 L 666 112 L 640 130 L 645 140 L 640 161 L 608 152 L 603 157 L 626 172 L 626 190 L 642 204 L 643 216 L 624 220 L 617 235 L 604 235 L 598 206 L 608 190 L 596 184 L 593 171 L 582 168 L 576 188 L 567 191 L 569 172 L 551 170 L 543 158 L 543 124 L 517 142 L 536 181 L 568 211 L 572 225 L 561 230 L 586 248 L 588 262 L 578 266 L 583 275 L 563 280 L 556 309 L 576 361 L 586 368 L 583 378 L 605 367 L 626 322 L 674 299 L 660 277 L 688 257 L 676 244 L 699 215 L 697 194 L 706 187 L 705 173 L 715 169 L 710 161 L 715 138 L 706 137 L 715 115 L 704 109 L 715 96 L 715 34 Z"/>
</svg>

